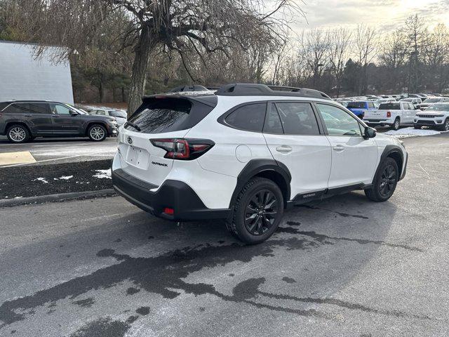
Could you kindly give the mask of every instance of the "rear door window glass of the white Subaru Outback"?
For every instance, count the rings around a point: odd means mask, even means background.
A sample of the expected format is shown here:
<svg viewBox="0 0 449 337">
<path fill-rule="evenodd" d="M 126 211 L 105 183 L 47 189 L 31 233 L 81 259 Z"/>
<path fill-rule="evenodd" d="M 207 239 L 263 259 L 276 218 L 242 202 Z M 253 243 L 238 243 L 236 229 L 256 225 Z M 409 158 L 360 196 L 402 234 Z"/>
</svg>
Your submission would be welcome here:
<svg viewBox="0 0 449 337">
<path fill-rule="evenodd" d="M 310 103 L 276 103 L 284 133 L 287 135 L 319 135 L 320 131 Z"/>
</svg>

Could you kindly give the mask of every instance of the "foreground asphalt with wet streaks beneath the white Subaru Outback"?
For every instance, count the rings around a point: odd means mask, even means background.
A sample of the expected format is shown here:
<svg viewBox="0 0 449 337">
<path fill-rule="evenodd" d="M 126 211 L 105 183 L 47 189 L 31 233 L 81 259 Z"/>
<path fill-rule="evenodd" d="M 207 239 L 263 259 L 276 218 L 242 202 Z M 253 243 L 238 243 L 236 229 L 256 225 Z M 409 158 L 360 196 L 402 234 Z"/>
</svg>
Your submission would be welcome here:
<svg viewBox="0 0 449 337">
<path fill-rule="evenodd" d="M 384 203 L 288 211 L 243 246 L 121 197 L 0 209 L 0 336 L 448 336 L 449 135 Z"/>
</svg>

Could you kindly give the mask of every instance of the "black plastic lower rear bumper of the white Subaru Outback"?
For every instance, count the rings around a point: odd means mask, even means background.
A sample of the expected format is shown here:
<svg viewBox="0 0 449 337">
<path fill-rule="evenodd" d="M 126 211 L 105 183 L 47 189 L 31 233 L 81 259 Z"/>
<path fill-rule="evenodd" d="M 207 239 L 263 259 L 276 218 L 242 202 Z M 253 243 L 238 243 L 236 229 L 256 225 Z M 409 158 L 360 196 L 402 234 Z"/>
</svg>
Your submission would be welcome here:
<svg viewBox="0 0 449 337">
<path fill-rule="evenodd" d="M 167 220 L 203 220 L 227 218 L 230 209 L 208 209 L 189 185 L 178 180 L 166 180 L 157 186 L 130 176 L 122 169 L 112 171 L 112 184 L 122 197 L 140 209 Z M 164 213 L 166 207 L 173 214 Z"/>
</svg>

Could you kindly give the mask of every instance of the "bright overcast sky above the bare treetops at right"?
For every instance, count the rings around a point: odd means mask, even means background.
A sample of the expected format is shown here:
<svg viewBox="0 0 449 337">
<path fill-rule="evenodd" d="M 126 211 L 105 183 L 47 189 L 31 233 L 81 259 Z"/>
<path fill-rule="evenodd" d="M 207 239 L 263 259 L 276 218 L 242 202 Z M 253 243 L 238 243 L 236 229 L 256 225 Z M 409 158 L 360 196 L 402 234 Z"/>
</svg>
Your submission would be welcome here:
<svg viewBox="0 0 449 337">
<path fill-rule="evenodd" d="M 433 27 L 449 26 L 449 0 L 296 0 L 306 19 L 297 18 L 295 30 L 366 23 L 387 31 L 418 14 Z"/>
</svg>

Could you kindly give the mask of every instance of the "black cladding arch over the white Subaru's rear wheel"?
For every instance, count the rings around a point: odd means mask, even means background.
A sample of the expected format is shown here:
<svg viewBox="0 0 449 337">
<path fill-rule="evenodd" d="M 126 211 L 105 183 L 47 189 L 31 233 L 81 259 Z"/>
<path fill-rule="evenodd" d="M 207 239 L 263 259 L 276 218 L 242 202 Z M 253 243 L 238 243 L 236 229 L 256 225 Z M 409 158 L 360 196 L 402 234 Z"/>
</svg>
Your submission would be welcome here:
<svg viewBox="0 0 449 337">
<path fill-rule="evenodd" d="M 284 198 L 283 206 L 285 208 L 287 201 L 290 200 L 290 181 L 292 180 L 292 176 L 285 164 L 274 159 L 252 159 L 248 161 L 239 173 L 239 176 L 237 176 L 237 184 L 232 194 L 229 208 L 232 208 L 237 195 L 245 184 L 255 176 L 273 180 L 274 183 L 279 185 L 279 189 Z"/>
</svg>

